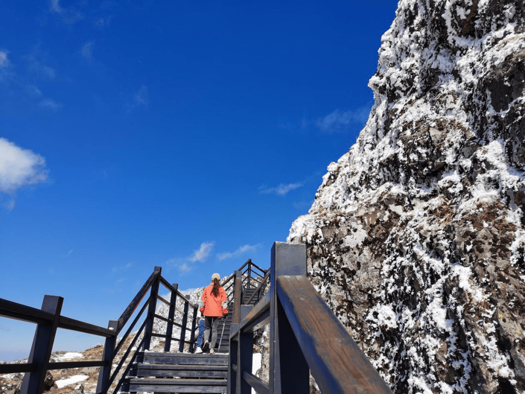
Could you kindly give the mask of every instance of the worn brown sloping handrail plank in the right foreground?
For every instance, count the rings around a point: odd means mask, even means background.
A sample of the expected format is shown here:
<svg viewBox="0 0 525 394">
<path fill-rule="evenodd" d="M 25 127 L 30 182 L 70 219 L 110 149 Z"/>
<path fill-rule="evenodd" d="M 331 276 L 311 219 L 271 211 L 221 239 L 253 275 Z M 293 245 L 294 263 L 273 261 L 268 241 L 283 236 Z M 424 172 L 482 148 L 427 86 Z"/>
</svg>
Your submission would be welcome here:
<svg viewBox="0 0 525 394">
<path fill-rule="evenodd" d="M 321 392 L 392 394 L 304 275 L 281 275 L 277 294 Z"/>
</svg>

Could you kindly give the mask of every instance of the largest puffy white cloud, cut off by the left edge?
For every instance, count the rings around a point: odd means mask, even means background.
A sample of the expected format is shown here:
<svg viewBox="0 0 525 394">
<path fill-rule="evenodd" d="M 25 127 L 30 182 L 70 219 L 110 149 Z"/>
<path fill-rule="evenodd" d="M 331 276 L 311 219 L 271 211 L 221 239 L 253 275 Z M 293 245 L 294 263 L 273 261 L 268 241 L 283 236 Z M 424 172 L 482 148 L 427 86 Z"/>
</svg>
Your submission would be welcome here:
<svg viewBox="0 0 525 394">
<path fill-rule="evenodd" d="M 29 149 L 0 138 L 0 191 L 13 193 L 24 185 L 45 182 L 46 160 Z M 14 202 L 12 202 L 14 207 Z"/>
</svg>

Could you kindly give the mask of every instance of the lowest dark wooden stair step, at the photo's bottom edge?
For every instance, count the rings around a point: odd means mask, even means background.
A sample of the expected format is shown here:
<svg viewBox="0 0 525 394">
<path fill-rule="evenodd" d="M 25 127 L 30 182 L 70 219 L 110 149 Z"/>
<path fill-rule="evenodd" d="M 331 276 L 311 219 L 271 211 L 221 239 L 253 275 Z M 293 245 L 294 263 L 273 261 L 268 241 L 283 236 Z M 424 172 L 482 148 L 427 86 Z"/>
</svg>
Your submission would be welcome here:
<svg viewBox="0 0 525 394">
<path fill-rule="evenodd" d="M 132 391 L 142 392 L 226 392 L 226 379 L 131 378 Z"/>
</svg>

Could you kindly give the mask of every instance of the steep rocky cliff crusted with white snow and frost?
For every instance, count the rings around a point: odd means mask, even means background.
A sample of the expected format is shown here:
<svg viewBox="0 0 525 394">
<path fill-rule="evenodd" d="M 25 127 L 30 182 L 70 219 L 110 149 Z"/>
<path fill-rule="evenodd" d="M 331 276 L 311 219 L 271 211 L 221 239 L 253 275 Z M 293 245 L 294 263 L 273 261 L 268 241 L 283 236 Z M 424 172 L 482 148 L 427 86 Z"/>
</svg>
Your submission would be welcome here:
<svg viewBox="0 0 525 394">
<path fill-rule="evenodd" d="M 398 394 L 525 392 L 525 3 L 401 0 L 289 241 Z"/>
</svg>

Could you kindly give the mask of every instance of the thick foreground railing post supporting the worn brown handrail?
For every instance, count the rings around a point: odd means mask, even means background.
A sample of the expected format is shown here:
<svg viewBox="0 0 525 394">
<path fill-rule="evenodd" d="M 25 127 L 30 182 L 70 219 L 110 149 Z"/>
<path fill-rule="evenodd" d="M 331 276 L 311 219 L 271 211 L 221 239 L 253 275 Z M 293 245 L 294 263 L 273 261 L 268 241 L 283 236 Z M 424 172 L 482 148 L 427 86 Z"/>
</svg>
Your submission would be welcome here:
<svg viewBox="0 0 525 394">
<path fill-rule="evenodd" d="M 308 363 L 276 292 L 279 275 L 306 275 L 306 245 L 275 242 L 270 269 L 270 393 L 308 394 Z"/>
</svg>

